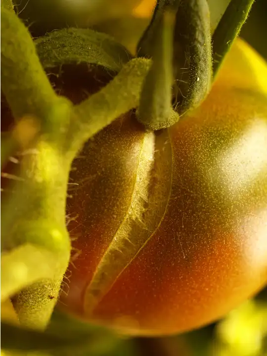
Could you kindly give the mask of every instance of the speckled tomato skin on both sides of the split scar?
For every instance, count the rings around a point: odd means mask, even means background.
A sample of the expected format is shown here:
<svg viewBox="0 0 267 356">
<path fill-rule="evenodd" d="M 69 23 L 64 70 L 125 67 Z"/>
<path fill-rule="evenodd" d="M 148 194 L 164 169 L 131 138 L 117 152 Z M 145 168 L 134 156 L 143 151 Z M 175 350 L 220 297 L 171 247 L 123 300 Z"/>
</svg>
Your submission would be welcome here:
<svg viewBox="0 0 267 356">
<path fill-rule="evenodd" d="M 231 69 L 229 62 L 225 67 Z M 73 181 L 95 170 L 98 183 L 78 189 L 68 206 L 78 216 L 70 232 L 77 232 L 73 247 L 79 256 L 69 266 L 63 309 L 123 333 L 167 335 L 222 317 L 266 284 L 267 91 L 260 76 L 249 87 L 240 74 L 231 83 L 222 73 L 204 103 L 168 129 L 172 187 L 165 215 L 89 316 L 85 289 L 127 211 L 144 132 L 133 117 L 121 121 L 126 136 L 114 122 L 96 136 L 98 154 L 90 164 L 74 162 Z M 252 70 L 249 76 L 256 78 Z M 107 139 L 113 146 L 105 146 Z M 112 170 L 114 160 L 120 164 Z M 87 198 L 92 190 L 100 194 L 93 202 Z M 114 204 L 120 207 L 116 219 Z M 97 222 L 89 215 L 93 210 Z"/>
</svg>

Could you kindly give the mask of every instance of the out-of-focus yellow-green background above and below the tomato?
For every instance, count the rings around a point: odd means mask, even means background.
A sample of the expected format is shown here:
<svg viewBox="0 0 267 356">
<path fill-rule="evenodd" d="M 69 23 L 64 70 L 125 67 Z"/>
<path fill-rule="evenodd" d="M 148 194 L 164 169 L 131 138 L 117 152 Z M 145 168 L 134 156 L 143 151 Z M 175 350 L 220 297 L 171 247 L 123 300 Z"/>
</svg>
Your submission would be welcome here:
<svg viewBox="0 0 267 356">
<path fill-rule="evenodd" d="M 149 22 L 148 18 L 133 15 L 132 9 L 138 2 L 22 0 L 17 11 L 35 37 L 65 26 L 91 26 L 113 35 L 134 51 L 138 38 Z M 228 0 L 209 0 L 213 26 L 218 22 L 227 3 Z M 241 37 L 267 59 L 266 36 L 267 0 L 256 0 L 249 19 L 242 28 Z M 103 337 L 101 343 L 105 342 Z M 69 353 L 65 350 L 62 355 L 74 355 L 74 350 Z M 75 356 L 78 355 L 92 354 L 81 348 L 75 350 Z M 97 355 L 267 356 L 267 288 L 255 299 L 232 311 L 225 319 L 200 330 L 168 338 L 120 339 Z"/>
</svg>

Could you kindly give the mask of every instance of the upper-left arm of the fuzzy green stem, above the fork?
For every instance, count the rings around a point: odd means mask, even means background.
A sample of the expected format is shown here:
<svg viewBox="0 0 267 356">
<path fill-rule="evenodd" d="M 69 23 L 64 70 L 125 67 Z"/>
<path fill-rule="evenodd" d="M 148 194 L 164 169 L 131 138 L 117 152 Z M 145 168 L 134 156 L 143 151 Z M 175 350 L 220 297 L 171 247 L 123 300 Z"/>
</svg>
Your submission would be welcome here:
<svg viewBox="0 0 267 356">
<path fill-rule="evenodd" d="M 16 119 L 46 120 L 58 100 L 31 35 L 14 11 L 1 9 L 1 89 Z"/>
</svg>

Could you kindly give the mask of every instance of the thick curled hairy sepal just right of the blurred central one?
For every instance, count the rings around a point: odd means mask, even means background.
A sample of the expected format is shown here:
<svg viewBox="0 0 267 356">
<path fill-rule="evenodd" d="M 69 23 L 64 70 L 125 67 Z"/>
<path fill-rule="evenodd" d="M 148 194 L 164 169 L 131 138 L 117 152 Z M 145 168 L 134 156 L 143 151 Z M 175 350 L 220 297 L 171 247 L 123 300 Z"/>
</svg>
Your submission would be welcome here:
<svg viewBox="0 0 267 356">
<path fill-rule="evenodd" d="M 212 83 L 210 12 L 207 0 L 181 2 L 175 29 L 175 105 L 180 114 L 196 108 Z"/>
</svg>

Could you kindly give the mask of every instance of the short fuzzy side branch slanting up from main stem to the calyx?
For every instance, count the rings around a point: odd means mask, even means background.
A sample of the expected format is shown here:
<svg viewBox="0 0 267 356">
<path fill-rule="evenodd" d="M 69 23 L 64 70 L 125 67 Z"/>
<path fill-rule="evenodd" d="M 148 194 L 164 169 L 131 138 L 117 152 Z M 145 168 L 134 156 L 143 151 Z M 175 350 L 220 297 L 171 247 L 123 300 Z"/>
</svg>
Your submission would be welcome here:
<svg viewBox="0 0 267 356">
<path fill-rule="evenodd" d="M 138 106 L 142 84 L 150 66 L 149 59 L 132 59 L 108 85 L 74 106 L 69 135 L 66 136 L 72 158 L 89 137 Z"/>
</svg>

